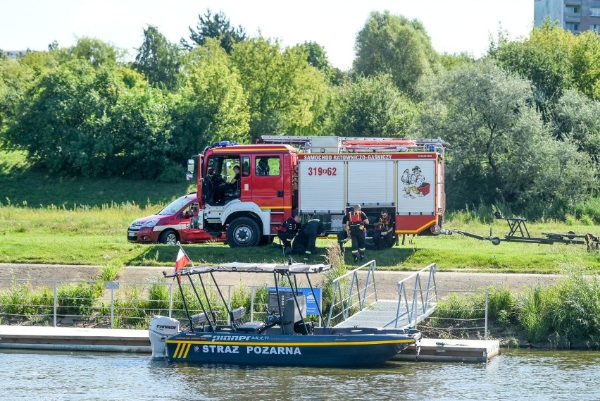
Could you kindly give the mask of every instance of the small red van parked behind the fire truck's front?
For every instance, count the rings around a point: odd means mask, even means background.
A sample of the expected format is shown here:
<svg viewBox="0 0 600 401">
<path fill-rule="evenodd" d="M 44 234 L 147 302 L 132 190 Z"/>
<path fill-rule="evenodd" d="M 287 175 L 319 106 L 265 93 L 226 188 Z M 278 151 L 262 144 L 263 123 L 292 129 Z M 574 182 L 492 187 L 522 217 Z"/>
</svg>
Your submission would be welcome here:
<svg viewBox="0 0 600 401">
<path fill-rule="evenodd" d="M 138 218 L 127 228 L 130 242 L 175 245 L 196 242 L 225 242 L 222 233 L 208 233 L 198 227 L 198 197 L 196 193 L 175 199 L 157 214 Z"/>
</svg>

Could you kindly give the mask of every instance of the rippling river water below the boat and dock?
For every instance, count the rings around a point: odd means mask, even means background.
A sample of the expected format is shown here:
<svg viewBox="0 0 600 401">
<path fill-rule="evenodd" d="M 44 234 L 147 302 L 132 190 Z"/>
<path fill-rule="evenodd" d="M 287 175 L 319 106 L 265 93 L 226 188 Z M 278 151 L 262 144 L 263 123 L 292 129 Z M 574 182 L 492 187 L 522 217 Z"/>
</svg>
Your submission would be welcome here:
<svg viewBox="0 0 600 401">
<path fill-rule="evenodd" d="M 600 352 L 503 350 L 488 364 L 380 369 L 170 364 L 0 350 L 0 400 L 600 400 Z"/>
</svg>

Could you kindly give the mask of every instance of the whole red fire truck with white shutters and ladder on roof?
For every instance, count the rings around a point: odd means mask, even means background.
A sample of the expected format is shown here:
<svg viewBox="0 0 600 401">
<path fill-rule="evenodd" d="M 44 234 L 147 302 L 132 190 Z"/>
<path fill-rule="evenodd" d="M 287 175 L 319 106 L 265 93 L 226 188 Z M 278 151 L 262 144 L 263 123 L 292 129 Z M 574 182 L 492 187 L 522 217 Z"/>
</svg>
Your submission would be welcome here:
<svg viewBox="0 0 600 401">
<path fill-rule="evenodd" d="M 198 218 L 192 230 L 225 234 L 231 247 L 254 247 L 277 235 L 297 210 L 320 218 L 327 235 L 342 231 L 344 214 L 360 204 L 373 246 L 382 209 L 400 235 L 444 229 L 444 140 L 265 135 L 256 144 L 211 144 L 188 161 Z M 198 164 L 196 171 L 195 164 Z M 237 169 L 236 169 L 237 168 Z"/>
</svg>

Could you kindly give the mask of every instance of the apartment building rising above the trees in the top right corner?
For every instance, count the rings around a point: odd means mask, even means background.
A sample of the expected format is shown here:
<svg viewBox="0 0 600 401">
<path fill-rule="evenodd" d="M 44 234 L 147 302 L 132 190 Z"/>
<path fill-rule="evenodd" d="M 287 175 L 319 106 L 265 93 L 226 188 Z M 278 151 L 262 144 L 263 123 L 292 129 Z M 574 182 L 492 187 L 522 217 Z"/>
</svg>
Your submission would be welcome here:
<svg viewBox="0 0 600 401">
<path fill-rule="evenodd" d="M 535 26 L 542 25 L 546 16 L 575 34 L 585 30 L 600 33 L 600 0 L 534 0 Z"/>
</svg>

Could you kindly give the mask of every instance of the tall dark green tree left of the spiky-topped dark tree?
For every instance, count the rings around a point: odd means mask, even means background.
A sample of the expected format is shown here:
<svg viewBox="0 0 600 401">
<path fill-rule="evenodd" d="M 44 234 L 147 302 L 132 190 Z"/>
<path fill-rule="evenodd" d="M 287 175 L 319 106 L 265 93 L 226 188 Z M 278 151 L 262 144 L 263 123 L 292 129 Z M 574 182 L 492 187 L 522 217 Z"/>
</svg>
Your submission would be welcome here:
<svg viewBox="0 0 600 401">
<path fill-rule="evenodd" d="M 144 43 L 137 49 L 132 67 L 151 85 L 174 90 L 182 67 L 181 50 L 177 44 L 168 42 L 157 27 L 149 25 L 144 29 Z"/>
</svg>

